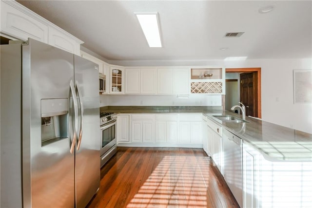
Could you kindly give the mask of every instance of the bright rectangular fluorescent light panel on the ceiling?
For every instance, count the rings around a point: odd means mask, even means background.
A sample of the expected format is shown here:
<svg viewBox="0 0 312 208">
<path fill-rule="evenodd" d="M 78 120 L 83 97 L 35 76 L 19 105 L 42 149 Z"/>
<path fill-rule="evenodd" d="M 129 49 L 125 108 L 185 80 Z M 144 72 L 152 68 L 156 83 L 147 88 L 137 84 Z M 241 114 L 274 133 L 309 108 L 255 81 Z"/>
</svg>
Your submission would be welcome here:
<svg viewBox="0 0 312 208">
<path fill-rule="evenodd" d="M 145 38 L 151 48 L 160 48 L 160 32 L 157 12 L 135 12 Z"/>
</svg>

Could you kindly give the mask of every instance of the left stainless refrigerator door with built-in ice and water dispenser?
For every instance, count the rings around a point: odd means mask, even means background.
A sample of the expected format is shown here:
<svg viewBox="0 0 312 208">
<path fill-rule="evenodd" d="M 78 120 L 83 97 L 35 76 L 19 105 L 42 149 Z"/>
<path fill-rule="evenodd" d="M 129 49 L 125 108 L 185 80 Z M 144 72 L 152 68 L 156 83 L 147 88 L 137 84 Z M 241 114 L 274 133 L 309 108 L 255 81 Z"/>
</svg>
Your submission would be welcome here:
<svg viewBox="0 0 312 208">
<path fill-rule="evenodd" d="M 23 207 L 75 207 L 73 54 L 30 39 L 22 58 Z"/>
</svg>

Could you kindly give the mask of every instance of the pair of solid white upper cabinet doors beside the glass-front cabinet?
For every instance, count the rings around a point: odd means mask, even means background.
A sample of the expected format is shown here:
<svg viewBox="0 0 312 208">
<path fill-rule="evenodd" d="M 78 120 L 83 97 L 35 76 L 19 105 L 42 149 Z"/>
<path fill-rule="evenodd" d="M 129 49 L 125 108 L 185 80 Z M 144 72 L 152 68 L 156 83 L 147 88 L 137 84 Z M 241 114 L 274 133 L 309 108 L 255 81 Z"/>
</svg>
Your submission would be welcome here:
<svg viewBox="0 0 312 208">
<path fill-rule="evenodd" d="M 156 93 L 156 69 L 125 68 L 125 94 Z"/>
</svg>

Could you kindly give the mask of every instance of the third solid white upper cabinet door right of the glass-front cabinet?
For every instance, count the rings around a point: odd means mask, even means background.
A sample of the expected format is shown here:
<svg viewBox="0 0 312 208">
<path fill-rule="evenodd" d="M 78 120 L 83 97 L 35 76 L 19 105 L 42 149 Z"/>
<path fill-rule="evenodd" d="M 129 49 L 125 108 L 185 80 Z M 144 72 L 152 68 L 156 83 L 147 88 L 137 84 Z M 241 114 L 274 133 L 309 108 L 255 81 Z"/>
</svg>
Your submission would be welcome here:
<svg viewBox="0 0 312 208">
<path fill-rule="evenodd" d="M 172 69 L 157 69 L 157 94 L 173 94 L 173 71 Z"/>
</svg>

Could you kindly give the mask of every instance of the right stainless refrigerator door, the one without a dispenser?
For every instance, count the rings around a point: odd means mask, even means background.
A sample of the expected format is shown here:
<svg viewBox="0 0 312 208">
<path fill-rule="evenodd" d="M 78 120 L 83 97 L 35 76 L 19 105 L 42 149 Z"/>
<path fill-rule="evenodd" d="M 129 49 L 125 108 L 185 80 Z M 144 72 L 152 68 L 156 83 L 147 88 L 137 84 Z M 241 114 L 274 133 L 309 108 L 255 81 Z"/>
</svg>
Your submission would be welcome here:
<svg viewBox="0 0 312 208">
<path fill-rule="evenodd" d="M 76 205 L 84 208 L 97 192 L 100 181 L 98 65 L 75 55 L 74 66 L 80 113 L 76 147 Z"/>
</svg>

